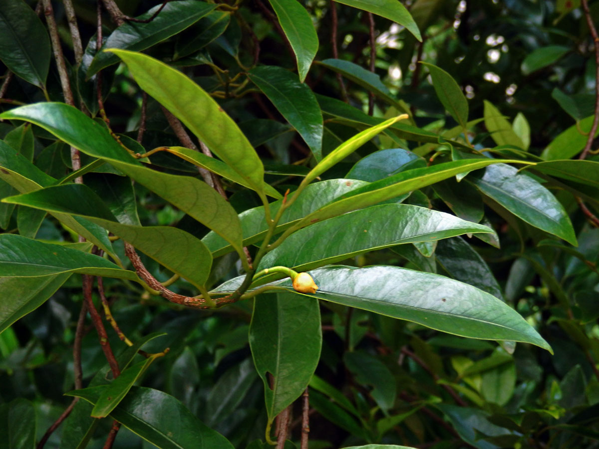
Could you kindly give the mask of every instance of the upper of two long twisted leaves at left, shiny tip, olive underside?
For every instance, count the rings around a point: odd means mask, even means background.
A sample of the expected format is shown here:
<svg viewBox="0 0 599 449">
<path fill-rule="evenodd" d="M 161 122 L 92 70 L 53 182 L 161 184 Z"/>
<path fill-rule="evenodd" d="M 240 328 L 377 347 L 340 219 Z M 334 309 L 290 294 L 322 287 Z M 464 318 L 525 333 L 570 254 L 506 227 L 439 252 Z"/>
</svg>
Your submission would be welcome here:
<svg viewBox="0 0 599 449">
<path fill-rule="evenodd" d="M 107 129 L 81 111 L 62 103 L 41 103 L 16 108 L 0 116 L 35 123 L 89 156 L 108 160 L 198 222 L 216 230 L 241 253 L 241 227 L 237 214 L 216 190 L 189 176 L 170 175 L 142 166 L 114 141 Z M 40 177 L 40 174 L 44 175 L 40 171 L 36 176 Z M 28 185 L 31 184 L 29 181 Z M 37 189 L 39 187 L 30 190 Z"/>
</svg>

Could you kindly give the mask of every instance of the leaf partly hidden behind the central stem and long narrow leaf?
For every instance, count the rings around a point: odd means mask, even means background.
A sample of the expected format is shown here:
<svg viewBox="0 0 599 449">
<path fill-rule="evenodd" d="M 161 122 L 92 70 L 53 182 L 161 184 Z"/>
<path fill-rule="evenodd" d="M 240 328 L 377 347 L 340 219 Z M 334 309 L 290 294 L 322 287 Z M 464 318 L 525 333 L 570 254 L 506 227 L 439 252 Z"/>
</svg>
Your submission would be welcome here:
<svg viewBox="0 0 599 449">
<path fill-rule="evenodd" d="M 297 223 L 306 214 L 319 209 L 350 190 L 365 185 L 367 183 L 364 181 L 347 179 L 334 179 L 310 184 L 304 189 L 297 201 L 282 214 L 275 232 L 279 233 L 288 229 L 288 227 Z M 271 203 L 271 214 L 276 214 L 280 207 L 281 201 Z M 264 206 L 244 211 L 239 215 L 239 219 L 243 229 L 244 246 L 260 241 L 268 230 L 264 216 Z M 216 232 L 209 232 L 202 238 L 202 242 L 212 251 L 213 257 L 222 256 L 222 254 L 232 250 L 225 239 L 217 235 Z"/>
</svg>

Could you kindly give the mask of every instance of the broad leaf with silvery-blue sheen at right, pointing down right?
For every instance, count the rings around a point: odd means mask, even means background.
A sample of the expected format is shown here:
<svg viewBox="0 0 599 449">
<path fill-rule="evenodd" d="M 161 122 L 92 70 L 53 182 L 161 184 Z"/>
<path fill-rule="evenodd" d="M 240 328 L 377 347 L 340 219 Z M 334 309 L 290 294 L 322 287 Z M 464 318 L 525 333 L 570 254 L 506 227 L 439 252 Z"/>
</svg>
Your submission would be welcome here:
<svg viewBox="0 0 599 449">
<path fill-rule="evenodd" d="M 480 177 L 466 179 L 529 225 L 576 245 L 576 235 L 564 207 L 533 178 L 502 163 L 489 166 Z"/>
</svg>

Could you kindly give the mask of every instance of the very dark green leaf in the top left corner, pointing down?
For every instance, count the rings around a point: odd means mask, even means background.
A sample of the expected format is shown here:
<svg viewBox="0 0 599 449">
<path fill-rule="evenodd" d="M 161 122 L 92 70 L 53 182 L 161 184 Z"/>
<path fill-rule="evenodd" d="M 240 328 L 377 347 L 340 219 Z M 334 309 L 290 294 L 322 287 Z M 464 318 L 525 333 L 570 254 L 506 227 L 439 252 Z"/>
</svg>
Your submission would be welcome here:
<svg viewBox="0 0 599 449">
<path fill-rule="evenodd" d="M 0 29 L 0 60 L 23 80 L 46 89 L 50 38 L 38 15 L 22 0 L 2 0 Z"/>
</svg>

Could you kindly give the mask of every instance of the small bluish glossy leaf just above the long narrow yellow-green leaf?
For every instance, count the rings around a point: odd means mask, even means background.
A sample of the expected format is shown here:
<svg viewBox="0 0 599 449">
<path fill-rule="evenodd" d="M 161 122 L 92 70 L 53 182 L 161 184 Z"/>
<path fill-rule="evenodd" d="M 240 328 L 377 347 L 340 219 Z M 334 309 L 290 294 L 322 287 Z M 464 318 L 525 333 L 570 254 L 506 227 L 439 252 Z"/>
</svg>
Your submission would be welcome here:
<svg viewBox="0 0 599 449">
<path fill-rule="evenodd" d="M 362 181 L 378 181 L 388 176 L 412 168 L 426 166 L 426 161 L 409 150 L 402 148 L 389 148 L 368 154 L 358 160 L 352 169 L 345 175 L 349 179 Z"/>
</svg>

